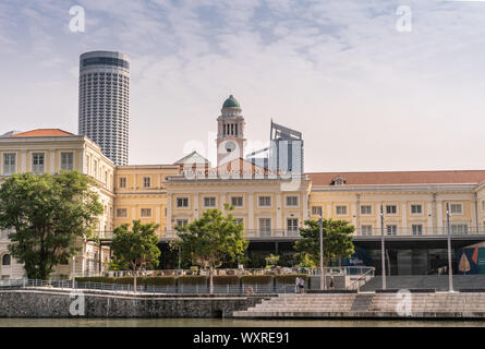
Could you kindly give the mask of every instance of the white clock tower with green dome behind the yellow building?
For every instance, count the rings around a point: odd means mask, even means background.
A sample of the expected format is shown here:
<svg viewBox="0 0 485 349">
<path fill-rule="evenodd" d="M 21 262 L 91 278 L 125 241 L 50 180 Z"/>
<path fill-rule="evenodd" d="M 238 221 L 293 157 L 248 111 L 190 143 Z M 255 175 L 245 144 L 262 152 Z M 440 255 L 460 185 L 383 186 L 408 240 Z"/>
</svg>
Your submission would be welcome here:
<svg viewBox="0 0 485 349">
<path fill-rule="evenodd" d="M 217 166 L 244 156 L 244 118 L 241 106 L 230 95 L 222 105 L 221 116 L 217 118 Z"/>
</svg>

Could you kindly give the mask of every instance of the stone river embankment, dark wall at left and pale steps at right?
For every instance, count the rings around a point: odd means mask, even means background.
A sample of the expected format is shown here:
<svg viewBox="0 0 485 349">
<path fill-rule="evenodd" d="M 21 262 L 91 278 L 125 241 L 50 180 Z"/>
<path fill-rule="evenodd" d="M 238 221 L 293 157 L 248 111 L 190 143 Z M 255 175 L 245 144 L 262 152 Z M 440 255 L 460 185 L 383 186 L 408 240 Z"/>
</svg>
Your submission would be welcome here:
<svg viewBox="0 0 485 349">
<path fill-rule="evenodd" d="M 0 317 L 480 320 L 485 318 L 485 292 L 246 296 L 28 288 L 0 290 Z"/>
</svg>

